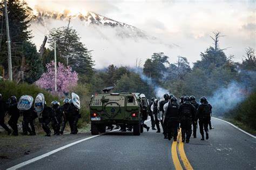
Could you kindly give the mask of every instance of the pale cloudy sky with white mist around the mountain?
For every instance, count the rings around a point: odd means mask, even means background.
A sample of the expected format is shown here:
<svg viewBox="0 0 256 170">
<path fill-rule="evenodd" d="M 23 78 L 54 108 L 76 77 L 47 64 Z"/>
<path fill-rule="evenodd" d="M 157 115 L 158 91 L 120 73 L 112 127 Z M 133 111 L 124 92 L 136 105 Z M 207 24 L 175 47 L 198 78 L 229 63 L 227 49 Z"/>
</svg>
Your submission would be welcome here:
<svg viewBox="0 0 256 170">
<path fill-rule="evenodd" d="M 216 30 L 225 35 L 220 39 L 220 47 L 223 49 L 231 47 L 226 50 L 226 54 L 234 55 L 235 61 L 241 61 L 246 47 L 256 47 L 256 1 L 26 0 L 26 2 L 32 8 L 37 5 L 53 11 L 64 9 L 80 12 L 93 11 L 116 21 L 136 26 L 164 42 L 179 46 L 170 48 L 159 44 L 149 44 L 143 40 L 133 43 L 127 40 L 117 42 L 113 39 L 111 42 L 115 45 L 111 45 L 99 36 L 84 35 L 83 28 L 76 28 L 78 25 L 75 23 L 72 25 L 71 22 L 71 26 L 78 30 L 86 46 L 93 50 L 96 68 L 102 68 L 111 63 L 134 66 L 136 58 L 142 58 L 145 61 L 152 52 L 164 52 L 170 57 L 170 62 L 174 62 L 180 55 L 187 57 L 192 63 L 200 59 L 200 52 L 204 52 L 211 45 L 212 40 L 209 36 L 212 31 Z M 51 24 L 53 27 L 59 26 L 57 23 Z M 47 33 L 46 31 L 47 29 L 41 30 L 37 35 L 42 32 Z M 111 33 L 106 34 L 111 35 Z M 36 44 L 37 40 L 42 37 L 42 35 L 37 35 L 34 38 Z M 99 42 L 102 43 L 99 45 Z M 119 59 L 117 56 L 120 56 Z"/>
</svg>

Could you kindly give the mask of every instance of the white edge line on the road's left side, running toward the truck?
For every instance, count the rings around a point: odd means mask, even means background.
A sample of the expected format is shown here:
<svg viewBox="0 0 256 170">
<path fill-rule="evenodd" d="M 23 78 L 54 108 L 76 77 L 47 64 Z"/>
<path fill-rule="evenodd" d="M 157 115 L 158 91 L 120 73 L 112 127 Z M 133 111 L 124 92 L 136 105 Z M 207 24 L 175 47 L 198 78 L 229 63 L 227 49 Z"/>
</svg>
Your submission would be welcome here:
<svg viewBox="0 0 256 170">
<path fill-rule="evenodd" d="M 150 121 L 150 119 L 149 119 L 149 120 L 146 120 L 145 123 L 146 123 L 147 121 Z M 118 131 L 118 130 L 113 130 L 113 131 L 106 132 L 106 133 L 111 133 L 111 132 L 115 132 L 115 131 Z M 48 156 L 50 156 L 51 154 L 56 153 L 56 152 L 59 152 L 59 151 L 65 149 L 65 148 L 68 148 L 68 147 L 70 147 L 70 146 L 79 144 L 80 142 L 83 142 L 83 141 L 85 141 L 85 140 L 89 140 L 89 139 L 92 139 L 92 138 L 99 137 L 100 135 L 103 135 L 103 134 L 106 134 L 106 133 L 94 135 L 94 136 L 92 136 L 92 137 L 88 137 L 88 138 L 84 138 L 84 139 L 81 139 L 81 140 L 72 142 L 71 144 L 68 144 L 68 145 L 59 147 L 59 148 L 57 148 L 57 149 L 54 149 L 53 151 L 47 152 L 47 153 L 42 154 L 42 155 L 40 155 L 40 156 L 38 156 L 38 157 L 36 157 L 36 158 L 32 158 L 32 159 L 30 159 L 30 160 L 28 160 L 28 161 L 25 161 L 25 162 L 22 162 L 22 163 L 20 163 L 20 164 L 15 165 L 15 166 L 12 166 L 12 167 L 10 167 L 10 168 L 8 168 L 8 169 L 6 169 L 6 170 L 14 170 L 14 169 L 21 168 L 21 167 L 23 167 L 23 166 L 26 166 L 26 165 L 31 164 L 32 162 L 38 161 L 39 159 L 43 159 L 43 158 L 45 158 L 45 157 L 48 157 Z"/>
</svg>

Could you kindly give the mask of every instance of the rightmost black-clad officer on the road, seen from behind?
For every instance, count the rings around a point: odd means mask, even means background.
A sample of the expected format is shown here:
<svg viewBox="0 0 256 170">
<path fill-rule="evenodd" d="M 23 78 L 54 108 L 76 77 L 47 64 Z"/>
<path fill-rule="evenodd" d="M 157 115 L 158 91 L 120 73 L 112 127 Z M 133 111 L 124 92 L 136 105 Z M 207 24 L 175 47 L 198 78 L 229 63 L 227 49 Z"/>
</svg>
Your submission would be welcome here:
<svg viewBox="0 0 256 170">
<path fill-rule="evenodd" d="M 206 133 L 206 139 L 209 138 L 208 134 L 208 123 L 211 120 L 211 110 L 212 106 L 208 104 L 207 99 L 205 97 L 201 97 L 200 105 L 197 110 L 197 120 L 199 119 L 199 128 L 201 133 L 201 140 L 205 140 L 204 138 L 204 130 Z"/>
</svg>

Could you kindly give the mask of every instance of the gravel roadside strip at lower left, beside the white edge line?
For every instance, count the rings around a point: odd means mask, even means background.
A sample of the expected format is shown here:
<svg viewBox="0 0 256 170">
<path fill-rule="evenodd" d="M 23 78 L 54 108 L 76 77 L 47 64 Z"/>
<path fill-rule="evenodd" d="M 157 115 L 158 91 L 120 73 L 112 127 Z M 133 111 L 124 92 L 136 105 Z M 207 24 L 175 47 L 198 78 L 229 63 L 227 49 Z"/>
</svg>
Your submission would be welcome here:
<svg viewBox="0 0 256 170">
<path fill-rule="evenodd" d="M 52 135 L 51 137 L 45 137 L 44 134 L 35 136 L 18 135 L 15 137 L 6 135 L 5 132 L 0 132 L 0 166 L 42 150 L 51 151 L 70 142 L 86 138 L 89 135 L 90 130 L 88 128 L 79 130 L 79 133 L 75 135 L 66 132 L 63 135 Z"/>
</svg>

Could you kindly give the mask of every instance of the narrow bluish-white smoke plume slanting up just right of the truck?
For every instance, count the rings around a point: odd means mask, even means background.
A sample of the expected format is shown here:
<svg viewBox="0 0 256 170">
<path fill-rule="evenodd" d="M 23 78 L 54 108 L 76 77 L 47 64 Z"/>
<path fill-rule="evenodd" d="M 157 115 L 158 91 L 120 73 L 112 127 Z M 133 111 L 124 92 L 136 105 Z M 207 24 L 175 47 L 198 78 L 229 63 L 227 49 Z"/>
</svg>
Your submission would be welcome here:
<svg viewBox="0 0 256 170">
<path fill-rule="evenodd" d="M 149 86 L 153 87 L 154 89 L 154 93 L 156 94 L 157 98 L 161 98 L 162 96 L 164 96 L 165 93 L 169 93 L 168 90 L 164 89 L 163 87 L 160 87 L 159 85 L 157 85 L 156 82 L 154 82 L 154 80 L 152 78 L 147 77 L 142 69 L 140 68 L 136 68 L 133 70 L 134 72 L 138 73 L 140 78 L 147 83 Z"/>
</svg>

